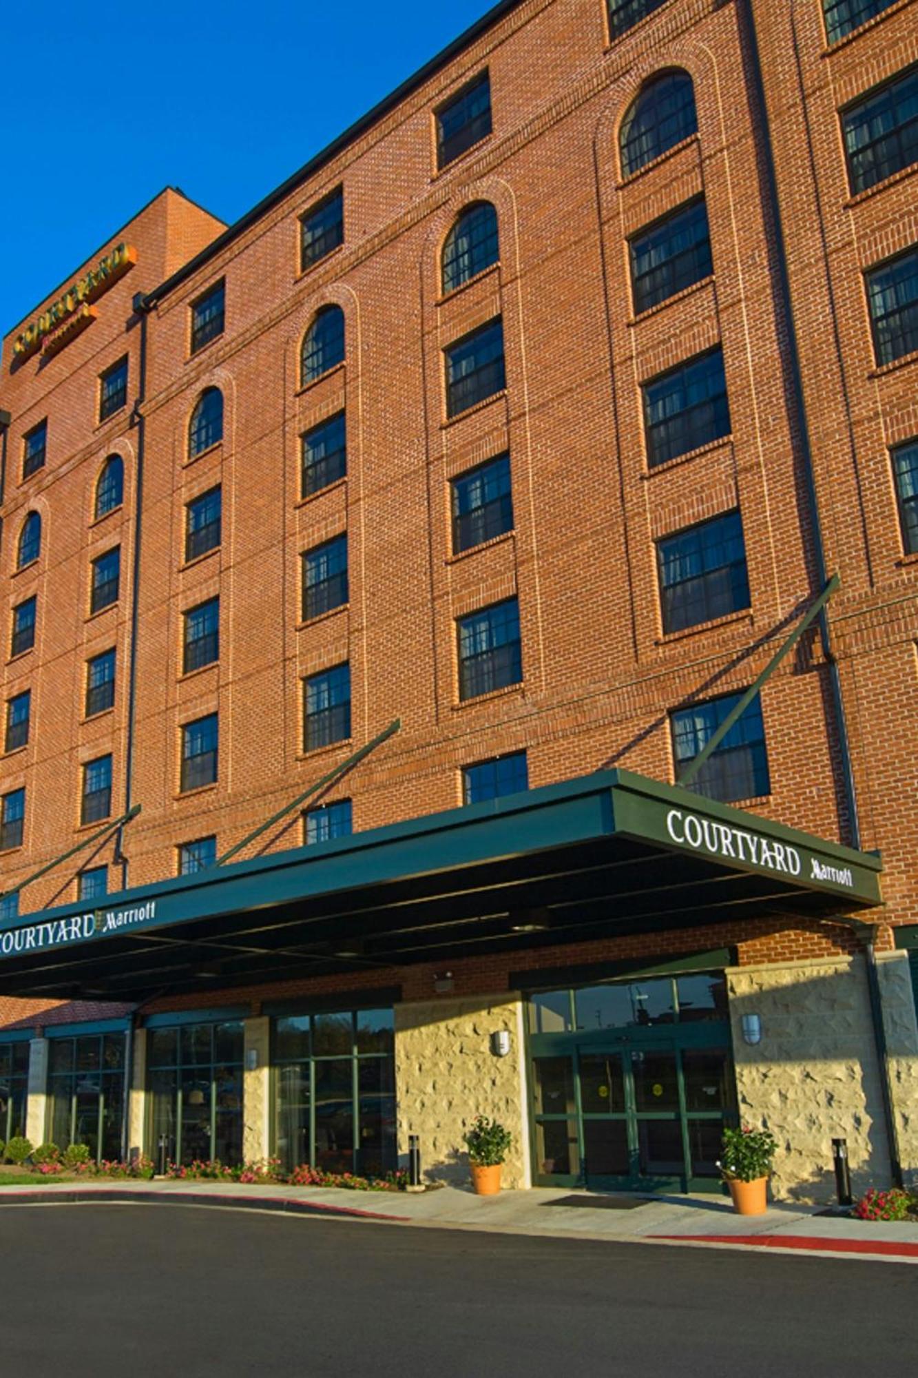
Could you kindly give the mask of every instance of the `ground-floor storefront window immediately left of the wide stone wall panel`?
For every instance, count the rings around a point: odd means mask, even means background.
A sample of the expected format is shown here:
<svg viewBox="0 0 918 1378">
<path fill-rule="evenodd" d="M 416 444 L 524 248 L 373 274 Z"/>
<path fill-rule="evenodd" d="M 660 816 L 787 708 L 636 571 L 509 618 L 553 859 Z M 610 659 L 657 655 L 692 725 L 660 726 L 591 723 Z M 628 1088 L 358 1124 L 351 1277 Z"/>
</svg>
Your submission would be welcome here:
<svg viewBox="0 0 918 1378">
<path fill-rule="evenodd" d="M 272 1032 L 274 1152 L 284 1167 L 393 1169 L 393 1011 L 283 1016 Z"/>
</svg>

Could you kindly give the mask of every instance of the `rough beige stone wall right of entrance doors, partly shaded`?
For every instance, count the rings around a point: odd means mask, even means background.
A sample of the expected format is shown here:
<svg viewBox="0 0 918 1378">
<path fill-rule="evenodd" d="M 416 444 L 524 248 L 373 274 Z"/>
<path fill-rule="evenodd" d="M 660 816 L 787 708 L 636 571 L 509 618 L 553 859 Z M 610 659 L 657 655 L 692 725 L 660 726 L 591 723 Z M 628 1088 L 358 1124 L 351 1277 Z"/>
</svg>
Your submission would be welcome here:
<svg viewBox="0 0 918 1378">
<path fill-rule="evenodd" d="M 906 1097 L 900 1124 L 912 1135 L 900 1144 L 914 1162 L 918 1123 L 918 1056 L 911 992 L 900 962 L 882 963 L 886 1028 L 893 1075 Z M 907 970 L 906 970 L 907 974 Z M 779 1142 L 772 1177 L 777 1200 L 830 1202 L 835 1193 L 831 1141 L 848 1140 L 855 1195 L 889 1186 L 889 1145 L 879 1064 L 870 1016 L 864 959 L 842 958 L 742 967 L 726 973 L 736 1061 L 739 1111 L 744 1122 L 766 1124 Z M 759 1014 L 762 1040 L 743 1040 L 743 1014 Z M 895 1051 L 895 1057 L 893 1057 Z M 901 1133 L 901 1130 L 900 1130 Z"/>
</svg>

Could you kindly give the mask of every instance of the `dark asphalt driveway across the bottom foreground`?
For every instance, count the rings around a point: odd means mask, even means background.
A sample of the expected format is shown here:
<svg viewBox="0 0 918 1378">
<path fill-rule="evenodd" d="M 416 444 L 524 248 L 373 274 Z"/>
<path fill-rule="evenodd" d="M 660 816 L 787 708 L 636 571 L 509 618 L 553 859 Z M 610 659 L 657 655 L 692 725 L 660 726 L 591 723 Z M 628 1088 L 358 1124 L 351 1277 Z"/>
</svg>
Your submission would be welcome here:
<svg viewBox="0 0 918 1378">
<path fill-rule="evenodd" d="M 914 1265 L 176 1206 L 0 1210 L 0 1372 L 914 1378 Z"/>
</svg>

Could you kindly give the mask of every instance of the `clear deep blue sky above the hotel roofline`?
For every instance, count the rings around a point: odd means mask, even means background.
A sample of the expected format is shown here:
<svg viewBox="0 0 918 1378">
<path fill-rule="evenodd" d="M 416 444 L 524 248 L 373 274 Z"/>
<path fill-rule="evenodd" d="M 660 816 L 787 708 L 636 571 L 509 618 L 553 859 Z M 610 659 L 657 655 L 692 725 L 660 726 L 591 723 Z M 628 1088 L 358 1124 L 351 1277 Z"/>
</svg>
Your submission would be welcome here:
<svg viewBox="0 0 918 1378">
<path fill-rule="evenodd" d="M 492 3 L 11 6 L 0 335 L 167 185 L 237 219 Z"/>
</svg>

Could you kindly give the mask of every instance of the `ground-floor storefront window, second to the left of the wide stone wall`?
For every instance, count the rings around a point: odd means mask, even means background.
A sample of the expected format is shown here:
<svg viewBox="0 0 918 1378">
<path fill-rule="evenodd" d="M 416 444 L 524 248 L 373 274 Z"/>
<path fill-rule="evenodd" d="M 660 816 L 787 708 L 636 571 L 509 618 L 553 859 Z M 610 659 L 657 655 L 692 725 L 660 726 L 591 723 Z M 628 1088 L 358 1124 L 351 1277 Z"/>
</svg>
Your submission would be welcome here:
<svg viewBox="0 0 918 1378">
<path fill-rule="evenodd" d="M 150 1029 L 150 1152 L 160 1138 L 171 1162 L 243 1160 L 241 1020 Z"/>
</svg>

